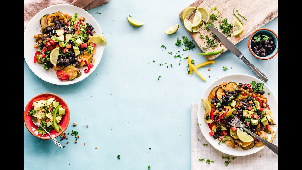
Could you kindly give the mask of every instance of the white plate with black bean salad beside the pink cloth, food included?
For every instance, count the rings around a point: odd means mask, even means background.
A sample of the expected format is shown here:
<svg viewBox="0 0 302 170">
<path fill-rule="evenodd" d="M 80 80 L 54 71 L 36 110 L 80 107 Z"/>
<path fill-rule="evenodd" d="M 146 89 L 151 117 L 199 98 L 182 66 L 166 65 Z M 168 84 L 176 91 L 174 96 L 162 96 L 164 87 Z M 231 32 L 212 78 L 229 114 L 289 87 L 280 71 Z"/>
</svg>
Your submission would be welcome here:
<svg viewBox="0 0 302 170">
<path fill-rule="evenodd" d="M 106 45 L 97 21 L 73 5 L 53 5 L 38 12 L 28 23 L 23 41 L 28 67 L 42 80 L 59 85 L 88 77 Z"/>
</svg>

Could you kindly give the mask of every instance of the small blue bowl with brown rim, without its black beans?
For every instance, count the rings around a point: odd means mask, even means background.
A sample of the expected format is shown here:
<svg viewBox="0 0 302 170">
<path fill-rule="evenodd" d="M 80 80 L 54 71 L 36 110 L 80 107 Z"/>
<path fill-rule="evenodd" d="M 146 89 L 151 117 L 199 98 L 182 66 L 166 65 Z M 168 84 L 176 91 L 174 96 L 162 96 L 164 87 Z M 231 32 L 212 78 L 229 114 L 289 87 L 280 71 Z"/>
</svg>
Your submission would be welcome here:
<svg viewBox="0 0 302 170">
<path fill-rule="evenodd" d="M 251 48 L 251 40 L 252 40 L 252 38 L 253 38 L 254 36 L 256 36 L 256 35 L 258 35 L 258 34 L 274 36 L 273 39 L 274 39 L 274 41 L 275 41 L 276 47 L 275 47 L 274 51 L 272 51 L 272 53 L 269 54 L 269 55 L 266 56 L 266 57 L 260 57 L 260 56 L 256 55 L 256 54 L 254 53 L 254 51 L 252 51 L 252 48 Z M 251 34 L 251 36 L 249 37 L 248 43 L 249 43 L 249 44 L 248 44 L 248 46 L 249 46 L 249 51 L 253 54 L 254 57 L 256 57 L 256 58 L 258 58 L 258 59 L 260 59 L 260 60 L 268 60 L 268 59 L 271 59 L 271 58 L 275 57 L 275 55 L 278 53 L 278 35 L 277 35 L 274 31 L 272 31 L 272 30 L 270 30 L 270 29 L 268 29 L 268 28 L 259 28 L 259 29 L 255 30 L 255 31 Z"/>
</svg>

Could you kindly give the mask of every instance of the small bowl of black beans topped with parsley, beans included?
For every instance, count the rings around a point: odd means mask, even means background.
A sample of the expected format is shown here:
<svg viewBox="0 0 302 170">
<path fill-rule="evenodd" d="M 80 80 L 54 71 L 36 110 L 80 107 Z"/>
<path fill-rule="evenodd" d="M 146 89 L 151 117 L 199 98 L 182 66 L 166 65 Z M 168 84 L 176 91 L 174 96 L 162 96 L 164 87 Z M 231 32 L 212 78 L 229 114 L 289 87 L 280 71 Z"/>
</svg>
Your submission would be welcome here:
<svg viewBox="0 0 302 170">
<path fill-rule="evenodd" d="M 249 37 L 248 46 L 254 57 L 271 59 L 278 53 L 278 35 L 268 28 L 259 28 Z"/>
</svg>

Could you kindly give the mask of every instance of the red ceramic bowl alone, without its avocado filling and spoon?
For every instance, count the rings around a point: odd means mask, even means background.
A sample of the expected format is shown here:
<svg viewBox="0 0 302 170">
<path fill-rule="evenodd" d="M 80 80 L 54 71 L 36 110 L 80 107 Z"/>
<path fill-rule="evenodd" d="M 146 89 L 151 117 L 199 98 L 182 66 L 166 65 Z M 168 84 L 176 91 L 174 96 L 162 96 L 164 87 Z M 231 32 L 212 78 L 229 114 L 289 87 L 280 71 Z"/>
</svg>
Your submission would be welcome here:
<svg viewBox="0 0 302 170">
<path fill-rule="evenodd" d="M 29 116 L 27 115 L 28 114 L 28 111 L 33 109 L 34 106 L 33 105 L 33 102 L 34 101 L 37 101 L 37 100 L 47 100 L 49 99 L 50 97 L 54 98 L 56 101 L 58 101 L 61 105 L 62 105 L 62 108 L 65 109 L 65 115 L 62 116 L 62 120 L 60 122 L 60 126 L 62 127 L 62 129 L 65 131 L 67 129 L 67 126 L 69 124 L 69 119 L 70 119 L 70 113 L 69 113 L 69 108 L 67 106 L 67 104 L 65 103 L 65 101 L 53 94 L 53 93 L 42 93 L 42 94 L 38 94 L 37 96 L 34 96 L 26 105 L 25 107 L 25 110 L 24 110 L 24 123 L 25 123 L 25 126 L 26 128 L 28 129 L 29 132 L 31 132 L 31 134 L 33 134 L 34 136 L 36 136 L 37 138 L 40 138 L 40 139 L 51 139 L 50 136 L 48 134 L 45 134 L 45 135 L 41 135 L 41 134 L 38 134 L 37 132 L 37 126 L 33 123 L 33 121 L 31 120 L 31 117 L 32 116 Z M 53 136 L 53 137 L 58 137 L 62 134 L 61 130 L 59 130 L 59 132 L 56 132 L 54 129 L 52 131 L 50 131 L 50 135 Z"/>
</svg>

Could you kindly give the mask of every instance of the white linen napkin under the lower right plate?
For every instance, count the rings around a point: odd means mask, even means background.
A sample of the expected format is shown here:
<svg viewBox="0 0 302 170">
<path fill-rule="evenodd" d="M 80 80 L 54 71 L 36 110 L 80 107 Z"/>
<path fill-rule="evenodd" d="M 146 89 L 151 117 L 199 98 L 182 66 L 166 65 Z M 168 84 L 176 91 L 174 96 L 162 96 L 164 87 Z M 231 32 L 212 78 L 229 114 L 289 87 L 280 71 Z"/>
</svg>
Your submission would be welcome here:
<svg viewBox="0 0 302 170">
<path fill-rule="evenodd" d="M 278 158 L 279 156 L 272 152 L 267 147 L 261 151 L 256 152 L 252 155 L 237 156 L 236 159 L 232 160 L 230 155 L 229 165 L 225 166 L 227 159 L 222 159 L 222 155 L 226 154 L 218 151 L 211 146 L 202 135 L 198 120 L 197 120 L 197 109 L 198 103 L 191 103 L 191 170 L 205 170 L 209 169 L 255 169 L 255 170 L 275 170 L 278 169 Z M 198 140 L 200 139 L 200 141 Z M 203 144 L 208 144 L 204 146 Z M 274 136 L 273 144 L 278 146 L 278 130 Z M 204 161 L 199 159 L 205 158 Z M 214 163 L 210 162 L 208 165 L 205 161 L 210 159 Z"/>
</svg>

